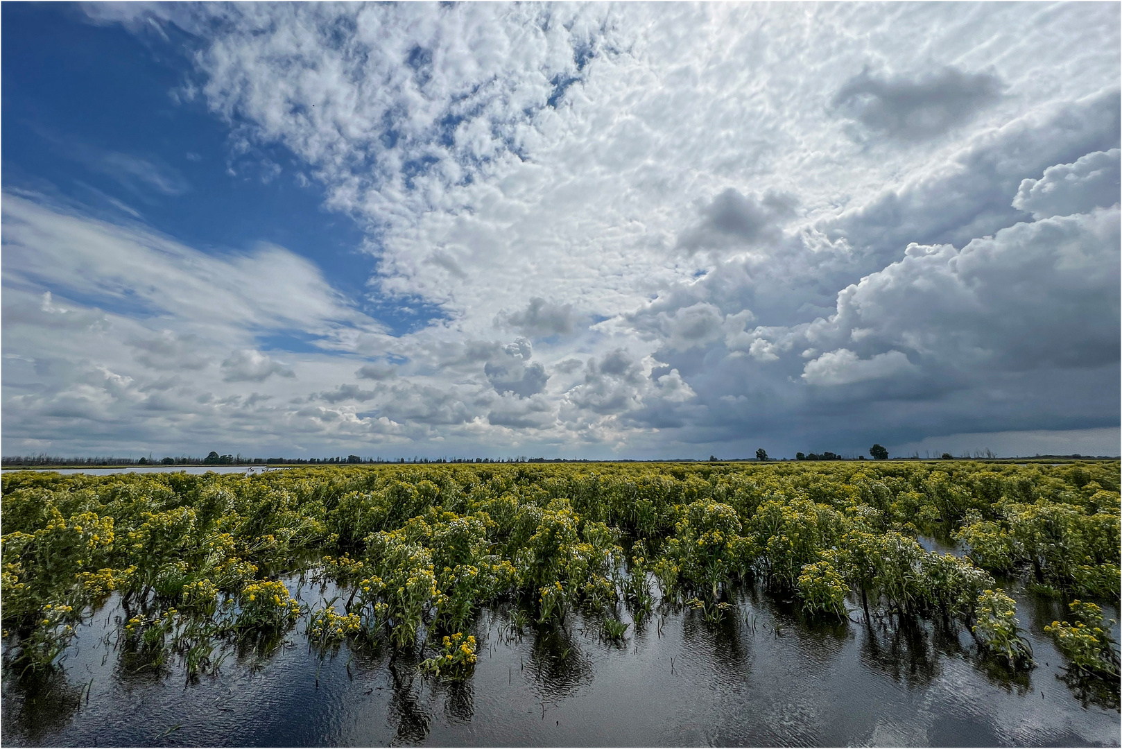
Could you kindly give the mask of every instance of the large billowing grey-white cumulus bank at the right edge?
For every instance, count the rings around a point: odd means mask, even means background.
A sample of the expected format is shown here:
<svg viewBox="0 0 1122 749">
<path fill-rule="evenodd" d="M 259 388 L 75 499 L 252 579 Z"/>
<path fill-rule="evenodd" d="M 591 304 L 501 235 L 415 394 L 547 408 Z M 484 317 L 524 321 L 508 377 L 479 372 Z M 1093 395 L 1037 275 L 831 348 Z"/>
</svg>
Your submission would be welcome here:
<svg viewBox="0 0 1122 749">
<path fill-rule="evenodd" d="M 840 384 L 849 371 L 902 371 L 902 351 L 928 372 L 980 375 L 1116 363 L 1118 221 L 1113 207 L 1018 223 L 962 250 L 910 245 L 903 259 L 842 291 L 828 319 L 757 328 L 752 346 L 771 360 L 829 350 L 806 365 L 803 378 L 816 384 Z M 839 346 L 853 344 L 868 354 Z"/>
</svg>

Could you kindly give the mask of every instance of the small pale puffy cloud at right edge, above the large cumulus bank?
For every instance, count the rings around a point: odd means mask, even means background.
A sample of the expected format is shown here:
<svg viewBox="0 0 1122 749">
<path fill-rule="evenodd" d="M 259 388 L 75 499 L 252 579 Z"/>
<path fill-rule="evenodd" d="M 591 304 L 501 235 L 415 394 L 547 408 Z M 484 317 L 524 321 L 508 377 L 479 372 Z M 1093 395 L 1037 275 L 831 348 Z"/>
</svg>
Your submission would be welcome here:
<svg viewBox="0 0 1122 749">
<path fill-rule="evenodd" d="M 1039 180 L 1026 179 L 1013 198 L 1013 208 L 1033 218 L 1086 213 L 1119 202 L 1118 148 L 1080 156 L 1074 164 L 1057 164 Z"/>
</svg>

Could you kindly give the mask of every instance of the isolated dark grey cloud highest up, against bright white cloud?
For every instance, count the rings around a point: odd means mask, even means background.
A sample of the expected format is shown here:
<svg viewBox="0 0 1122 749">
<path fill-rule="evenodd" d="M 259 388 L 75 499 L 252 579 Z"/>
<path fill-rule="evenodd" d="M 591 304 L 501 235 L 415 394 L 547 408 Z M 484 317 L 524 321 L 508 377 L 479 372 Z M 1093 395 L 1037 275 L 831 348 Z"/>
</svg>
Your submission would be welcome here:
<svg viewBox="0 0 1122 749">
<path fill-rule="evenodd" d="M 898 140 L 942 135 L 1001 97 L 1004 85 L 990 73 L 955 67 L 919 76 L 880 76 L 865 68 L 834 94 L 831 107 L 875 134 Z"/>
</svg>

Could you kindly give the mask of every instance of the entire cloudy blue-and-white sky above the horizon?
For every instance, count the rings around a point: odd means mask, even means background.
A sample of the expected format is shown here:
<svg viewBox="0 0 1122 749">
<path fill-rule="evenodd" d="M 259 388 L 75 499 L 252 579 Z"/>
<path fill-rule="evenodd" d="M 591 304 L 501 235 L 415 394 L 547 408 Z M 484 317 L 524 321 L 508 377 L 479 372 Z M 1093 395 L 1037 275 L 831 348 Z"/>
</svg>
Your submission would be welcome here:
<svg viewBox="0 0 1122 749">
<path fill-rule="evenodd" d="M 3 3 L 3 455 L 1120 453 L 1119 3 Z"/>
</svg>

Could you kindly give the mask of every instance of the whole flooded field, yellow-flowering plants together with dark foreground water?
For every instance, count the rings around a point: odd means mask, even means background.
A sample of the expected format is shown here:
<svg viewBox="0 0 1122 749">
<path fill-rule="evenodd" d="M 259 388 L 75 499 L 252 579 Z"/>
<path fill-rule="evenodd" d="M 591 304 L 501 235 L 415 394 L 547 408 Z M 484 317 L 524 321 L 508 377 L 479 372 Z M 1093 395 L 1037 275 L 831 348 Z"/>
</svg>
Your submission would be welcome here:
<svg viewBox="0 0 1122 749">
<path fill-rule="evenodd" d="M 8 473 L 8 746 L 1119 746 L 1114 465 Z"/>
</svg>

